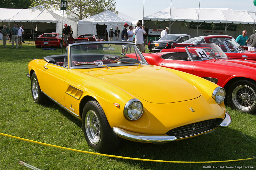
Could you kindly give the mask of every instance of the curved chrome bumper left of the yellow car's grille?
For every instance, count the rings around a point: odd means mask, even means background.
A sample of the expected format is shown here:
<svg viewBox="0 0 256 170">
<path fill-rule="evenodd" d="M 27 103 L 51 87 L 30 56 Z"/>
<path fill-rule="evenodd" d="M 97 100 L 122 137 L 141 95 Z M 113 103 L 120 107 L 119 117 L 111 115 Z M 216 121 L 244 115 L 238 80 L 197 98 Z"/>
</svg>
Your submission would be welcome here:
<svg viewBox="0 0 256 170">
<path fill-rule="evenodd" d="M 175 136 L 168 135 L 148 135 L 130 132 L 118 127 L 113 127 L 114 133 L 126 139 L 141 141 L 141 142 L 172 142 L 177 140 Z"/>
</svg>

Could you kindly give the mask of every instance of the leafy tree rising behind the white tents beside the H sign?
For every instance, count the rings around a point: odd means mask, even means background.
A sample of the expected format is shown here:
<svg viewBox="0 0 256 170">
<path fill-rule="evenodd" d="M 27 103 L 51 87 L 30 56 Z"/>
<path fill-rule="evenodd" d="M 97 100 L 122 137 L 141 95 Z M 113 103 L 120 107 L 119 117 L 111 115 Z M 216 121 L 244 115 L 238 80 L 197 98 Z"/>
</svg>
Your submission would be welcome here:
<svg viewBox="0 0 256 170">
<path fill-rule="evenodd" d="M 31 7 L 46 8 L 51 11 L 60 9 L 60 0 L 34 0 Z M 115 0 L 67 0 L 67 14 L 79 20 L 110 10 L 118 14 Z"/>
</svg>

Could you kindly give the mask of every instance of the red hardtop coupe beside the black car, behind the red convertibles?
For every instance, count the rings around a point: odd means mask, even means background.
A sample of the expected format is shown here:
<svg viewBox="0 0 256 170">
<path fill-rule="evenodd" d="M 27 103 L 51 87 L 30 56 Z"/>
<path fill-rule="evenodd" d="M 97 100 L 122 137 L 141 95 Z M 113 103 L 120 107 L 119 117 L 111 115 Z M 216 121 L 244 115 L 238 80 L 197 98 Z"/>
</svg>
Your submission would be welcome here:
<svg viewBox="0 0 256 170">
<path fill-rule="evenodd" d="M 219 42 L 227 41 L 227 40 L 235 40 L 232 36 L 229 35 L 206 35 L 191 38 L 182 43 L 173 43 L 172 48 L 176 47 L 187 47 L 193 44 L 201 44 L 201 43 L 214 43 L 218 44 Z M 243 49 L 247 50 L 248 46 L 241 46 Z"/>
</svg>

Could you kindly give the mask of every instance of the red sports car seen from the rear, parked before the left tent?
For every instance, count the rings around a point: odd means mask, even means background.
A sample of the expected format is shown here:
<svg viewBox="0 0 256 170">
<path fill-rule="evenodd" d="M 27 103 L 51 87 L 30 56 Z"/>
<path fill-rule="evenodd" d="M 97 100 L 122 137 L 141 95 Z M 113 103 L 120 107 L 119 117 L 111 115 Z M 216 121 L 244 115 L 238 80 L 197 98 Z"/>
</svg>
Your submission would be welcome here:
<svg viewBox="0 0 256 170">
<path fill-rule="evenodd" d="M 41 46 L 46 47 L 62 47 L 62 35 L 60 33 L 44 33 L 36 38 L 35 44 L 36 48 Z"/>
</svg>

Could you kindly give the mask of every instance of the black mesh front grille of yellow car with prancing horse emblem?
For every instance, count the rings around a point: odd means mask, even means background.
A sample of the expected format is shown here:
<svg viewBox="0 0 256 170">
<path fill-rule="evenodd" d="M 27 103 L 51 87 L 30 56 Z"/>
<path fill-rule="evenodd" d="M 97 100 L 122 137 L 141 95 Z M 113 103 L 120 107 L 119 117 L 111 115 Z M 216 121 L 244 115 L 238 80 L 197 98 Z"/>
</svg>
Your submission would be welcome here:
<svg viewBox="0 0 256 170">
<path fill-rule="evenodd" d="M 203 132 L 207 132 L 211 129 L 215 129 L 223 120 L 221 118 L 211 119 L 196 123 L 191 123 L 189 125 L 184 125 L 177 127 L 175 129 L 169 130 L 166 135 L 176 136 L 177 138 L 184 138 L 188 136 L 194 136 Z"/>
</svg>

